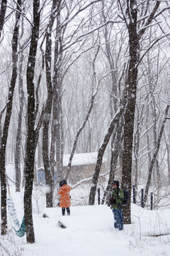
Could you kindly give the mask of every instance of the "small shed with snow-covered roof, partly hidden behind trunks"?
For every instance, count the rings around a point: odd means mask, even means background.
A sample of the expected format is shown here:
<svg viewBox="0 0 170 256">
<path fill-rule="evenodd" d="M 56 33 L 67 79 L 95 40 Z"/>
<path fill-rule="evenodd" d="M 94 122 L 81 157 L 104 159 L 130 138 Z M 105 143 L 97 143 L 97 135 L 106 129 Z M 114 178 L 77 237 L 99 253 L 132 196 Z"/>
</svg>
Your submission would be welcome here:
<svg viewBox="0 0 170 256">
<path fill-rule="evenodd" d="M 69 154 L 65 154 L 63 156 L 63 168 L 62 168 L 62 177 L 64 178 L 67 167 L 69 164 Z M 84 178 L 90 178 L 94 175 L 94 169 L 96 166 L 97 161 L 97 152 L 91 153 L 81 153 L 81 154 L 74 154 L 72 159 L 72 167 L 68 177 L 68 182 L 72 185 L 81 181 Z M 103 158 L 102 166 L 101 166 L 101 174 L 106 171 L 106 159 Z M 56 181 L 56 174 L 55 174 L 55 181 Z M 45 184 L 45 171 L 43 167 L 40 167 L 37 170 L 37 178 L 38 183 Z"/>
</svg>

